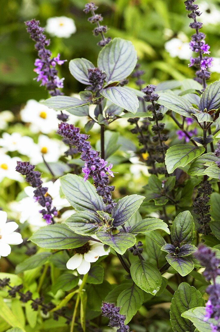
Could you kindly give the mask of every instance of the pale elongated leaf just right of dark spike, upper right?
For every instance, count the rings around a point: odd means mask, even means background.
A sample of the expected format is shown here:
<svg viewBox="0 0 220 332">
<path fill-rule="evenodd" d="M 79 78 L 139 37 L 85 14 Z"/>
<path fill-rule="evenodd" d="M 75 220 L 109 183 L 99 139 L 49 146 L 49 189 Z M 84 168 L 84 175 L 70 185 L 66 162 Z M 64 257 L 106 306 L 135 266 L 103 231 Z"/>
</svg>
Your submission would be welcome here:
<svg viewBox="0 0 220 332">
<path fill-rule="evenodd" d="M 186 99 L 176 95 L 174 92 L 160 92 L 158 93 L 159 99 L 158 103 L 167 107 L 169 110 L 176 112 L 180 115 L 183 115 L 187 118 L 193 118 L 191 115 L 192 104 L 188 102 Z"/>
</svg>

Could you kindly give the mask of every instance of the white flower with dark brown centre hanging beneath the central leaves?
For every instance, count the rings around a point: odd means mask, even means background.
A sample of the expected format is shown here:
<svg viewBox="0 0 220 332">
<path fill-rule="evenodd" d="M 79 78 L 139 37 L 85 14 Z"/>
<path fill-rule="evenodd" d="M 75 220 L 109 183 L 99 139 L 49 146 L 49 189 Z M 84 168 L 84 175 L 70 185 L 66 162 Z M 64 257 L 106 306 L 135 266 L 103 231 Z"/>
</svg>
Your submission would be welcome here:
<svg viewBox="0 0 220 332">
<path fill-rule="evenodd" d="M 90 269 L 90 263 L 96 262 L 100 256 L 108 255 L 110 249 L 104 250 L 104 244 L 89 241 L 84 246 L 75 248 L 76 254 L 66 263 L 69 270 L 77 270 L 79 274 L 86 274 Z"/>
</svg>

